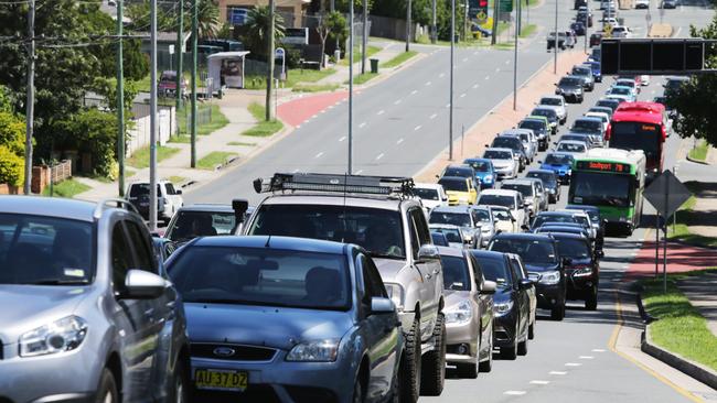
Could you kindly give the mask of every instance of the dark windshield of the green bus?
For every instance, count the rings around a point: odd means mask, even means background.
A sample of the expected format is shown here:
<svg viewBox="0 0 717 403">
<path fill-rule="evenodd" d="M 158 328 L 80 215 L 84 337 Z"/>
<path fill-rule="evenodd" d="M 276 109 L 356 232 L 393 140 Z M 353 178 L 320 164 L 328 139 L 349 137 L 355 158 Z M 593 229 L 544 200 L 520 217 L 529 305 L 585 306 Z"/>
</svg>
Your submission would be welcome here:
<svg viewBox="0 0 717 403">
<path fill-rule="evenodd" d="M 632 176 L 572 172 L 570 200 L 582 205 L 628 207 L 633 202 Z"/>
</svg>

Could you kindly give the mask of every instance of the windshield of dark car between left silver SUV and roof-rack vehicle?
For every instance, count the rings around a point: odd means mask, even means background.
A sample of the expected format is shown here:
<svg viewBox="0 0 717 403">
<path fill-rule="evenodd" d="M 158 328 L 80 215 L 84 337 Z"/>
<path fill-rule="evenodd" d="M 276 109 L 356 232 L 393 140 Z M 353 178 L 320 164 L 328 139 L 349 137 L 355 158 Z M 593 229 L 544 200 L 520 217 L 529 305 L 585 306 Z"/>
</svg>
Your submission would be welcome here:
<svg viewBox="0 0 717 403">
<path fill-rule="evenodd" d="M 185 241 L 196 237 L 229 235 L 235 224 L 234 213 L 180 211 L 164 237 L 172 241 Z"/>
</svg>

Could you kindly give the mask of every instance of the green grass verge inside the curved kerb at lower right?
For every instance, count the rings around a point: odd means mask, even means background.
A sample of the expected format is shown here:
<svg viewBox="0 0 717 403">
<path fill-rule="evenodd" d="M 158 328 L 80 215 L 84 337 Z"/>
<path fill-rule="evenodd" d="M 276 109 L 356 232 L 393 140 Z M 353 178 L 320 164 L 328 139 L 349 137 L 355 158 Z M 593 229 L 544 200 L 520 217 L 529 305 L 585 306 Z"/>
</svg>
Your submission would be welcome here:
<svg viewBox="0 0 717 403">
<path fill-rule="evenodd" d="M 651 316 L 660 318 L 650 324 L 650 335 L 657 346 L 717 370 L 717 337 L 675 285 L 681 277 L 700 273 L 704 271 L 668 275 L 666 294 L 662 279 L 644 280 L 642 302 Z"/>
</svg>

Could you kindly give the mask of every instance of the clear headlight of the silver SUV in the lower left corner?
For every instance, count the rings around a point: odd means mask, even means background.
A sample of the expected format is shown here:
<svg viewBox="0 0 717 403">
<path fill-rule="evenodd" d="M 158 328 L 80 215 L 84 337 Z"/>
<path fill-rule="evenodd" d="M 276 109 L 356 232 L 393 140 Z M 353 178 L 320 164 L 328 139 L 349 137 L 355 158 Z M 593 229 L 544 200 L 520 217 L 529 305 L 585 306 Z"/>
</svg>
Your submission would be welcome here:
<svg viewBox="0 0 717 403">
<path fill-rule="evenodd" d="M 72 351 L 87 336 L 87 323 L 78 316 L 67 316 L 30 330 L 18 340 L 21 357 Z"/>
</svg>

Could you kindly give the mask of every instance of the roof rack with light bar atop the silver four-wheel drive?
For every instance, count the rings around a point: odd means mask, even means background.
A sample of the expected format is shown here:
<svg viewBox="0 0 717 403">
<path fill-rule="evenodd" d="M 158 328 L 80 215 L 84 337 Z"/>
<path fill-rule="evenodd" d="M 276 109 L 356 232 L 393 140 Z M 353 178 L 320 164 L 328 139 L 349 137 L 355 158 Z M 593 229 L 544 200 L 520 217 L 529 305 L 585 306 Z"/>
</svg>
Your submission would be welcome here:
<svg viewBox="0 0 717 403">
<path fill-rule="evenodd" d="M 256 193 L 327 192 L 410 197 L 414 179 L 398 176 L 366 176 L 315 173 L 276 173 L 269 178 L 254 181 Z"/>
</svg>

